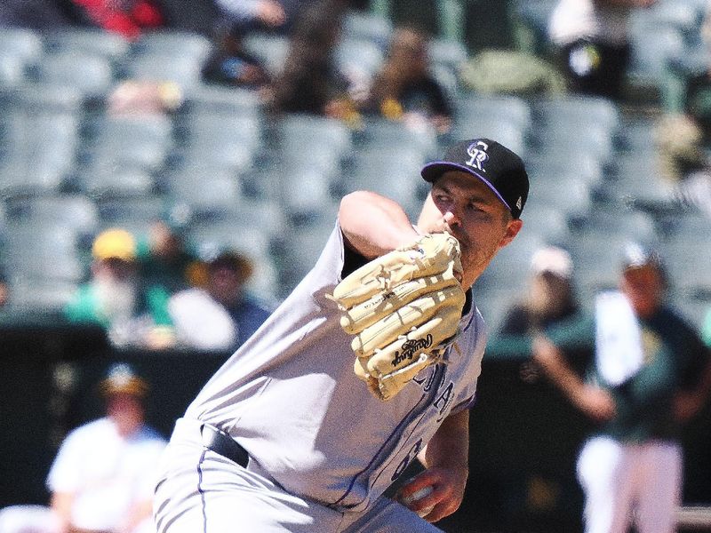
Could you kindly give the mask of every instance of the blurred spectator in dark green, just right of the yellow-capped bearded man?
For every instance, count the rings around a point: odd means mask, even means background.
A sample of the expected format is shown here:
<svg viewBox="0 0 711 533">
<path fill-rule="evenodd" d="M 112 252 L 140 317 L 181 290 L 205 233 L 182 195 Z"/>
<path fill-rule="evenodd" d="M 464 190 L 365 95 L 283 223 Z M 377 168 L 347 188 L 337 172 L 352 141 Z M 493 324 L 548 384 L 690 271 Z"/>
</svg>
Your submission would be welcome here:
<svg viewBox="0 0 711 533">
<path fill-rule="evenodd" d="M 168 216 L 156 220 L 136 243 L 143 284 L 172 294 L 196 283 L 199 258 L 185 239 L 185 225 Z"/>
</svg>

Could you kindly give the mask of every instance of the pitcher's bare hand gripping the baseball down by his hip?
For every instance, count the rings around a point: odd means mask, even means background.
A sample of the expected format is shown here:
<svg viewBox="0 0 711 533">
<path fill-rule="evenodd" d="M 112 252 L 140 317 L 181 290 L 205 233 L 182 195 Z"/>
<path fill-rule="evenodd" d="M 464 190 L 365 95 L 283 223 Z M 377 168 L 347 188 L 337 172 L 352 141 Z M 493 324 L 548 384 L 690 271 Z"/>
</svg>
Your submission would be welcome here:
<svg viewBox="0 0 711 533">
<path fill-rule="evenodd" d="M 405 483 L 398 491 L 398 499 L 410 497 L 426 487 L 432 487 L 432 492 L 419 500 L 407 505 L 415 513 L 419 513 L 426 521 L 442 520 L 459 509 L 467 486 L 468 471 L 462 468 L 432 467 Z M 432 507 L 429 513 L 421 513 Z"/>
</svg>

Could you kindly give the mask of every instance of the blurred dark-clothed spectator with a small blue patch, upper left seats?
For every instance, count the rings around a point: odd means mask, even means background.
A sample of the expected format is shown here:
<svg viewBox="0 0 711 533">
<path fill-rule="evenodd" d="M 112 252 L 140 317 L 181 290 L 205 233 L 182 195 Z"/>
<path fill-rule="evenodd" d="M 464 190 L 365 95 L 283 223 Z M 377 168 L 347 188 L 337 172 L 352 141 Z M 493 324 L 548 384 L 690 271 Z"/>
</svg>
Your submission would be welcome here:
<svg viewBox="0 0 711 533">
<path fill-rule="evenodd" d="M 244 49 L 243 40 L 243 35 L 229 24 L 215 29 L 212 55 L 203 67 L 206 82 L 252 89 L 268 83 L 267 69 Z"/>
</svg>

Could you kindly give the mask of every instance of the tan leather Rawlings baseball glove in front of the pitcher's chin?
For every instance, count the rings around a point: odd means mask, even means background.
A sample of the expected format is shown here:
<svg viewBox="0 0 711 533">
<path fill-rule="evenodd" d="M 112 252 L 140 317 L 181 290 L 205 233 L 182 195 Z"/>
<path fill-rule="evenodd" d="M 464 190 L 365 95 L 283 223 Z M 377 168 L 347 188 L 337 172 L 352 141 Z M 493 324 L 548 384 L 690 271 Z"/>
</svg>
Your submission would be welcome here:
<svg viewBox="0 0 711 533">
<path fill-rule="evenodd" d="M 354 371 L 380 400 L 389 400 L 457 333 L 465 294 L 459 242 L 422 235 L 371 260 L 333 290 L 340 325 L 353 335 Z"/>
</svg>

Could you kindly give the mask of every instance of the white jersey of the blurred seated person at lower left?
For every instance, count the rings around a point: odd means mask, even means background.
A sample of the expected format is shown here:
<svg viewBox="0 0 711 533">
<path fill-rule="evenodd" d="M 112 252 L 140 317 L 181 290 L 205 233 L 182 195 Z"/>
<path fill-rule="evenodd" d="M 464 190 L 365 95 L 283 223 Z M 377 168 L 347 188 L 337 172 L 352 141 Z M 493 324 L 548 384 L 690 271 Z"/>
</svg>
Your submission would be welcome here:
<svg viewBox="0 0 711 533">
<path fill-rule="evenodd" d="M 148 426 L 124 438 L 109 418 L 77 427 L 60 447 L 47 477 L 52 492 L 75 495 L 72 524 L 113 531 L 139 502 L 149 501 L 165 440 Z"/>
</svg>

